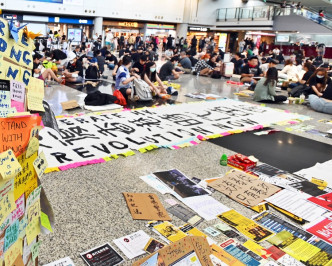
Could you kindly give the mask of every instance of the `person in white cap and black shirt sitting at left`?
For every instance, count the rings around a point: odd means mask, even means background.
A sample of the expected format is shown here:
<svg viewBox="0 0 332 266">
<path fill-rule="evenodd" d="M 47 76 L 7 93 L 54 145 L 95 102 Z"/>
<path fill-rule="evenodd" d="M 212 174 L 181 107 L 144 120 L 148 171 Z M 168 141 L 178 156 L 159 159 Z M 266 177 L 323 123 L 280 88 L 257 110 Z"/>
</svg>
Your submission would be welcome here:
<svg viewBox="0 0 332 266">
<path fill-rule="evenodd" d="M 69 52 L 68 65 L 66 70 L 63 72 L 66 81 L 72 83 L 83 82 L 83 63 L 79 60 L 74 52 Z"/>
</svg>

